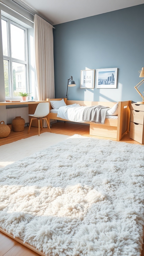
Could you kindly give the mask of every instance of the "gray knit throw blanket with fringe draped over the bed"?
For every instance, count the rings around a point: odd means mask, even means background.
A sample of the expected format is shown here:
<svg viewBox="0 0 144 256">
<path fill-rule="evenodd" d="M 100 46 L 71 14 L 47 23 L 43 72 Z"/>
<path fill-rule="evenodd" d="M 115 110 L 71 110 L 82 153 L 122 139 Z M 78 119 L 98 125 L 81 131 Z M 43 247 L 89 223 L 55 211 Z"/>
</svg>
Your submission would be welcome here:
<svg viewBox="0 0 144 256">
<path fill-rule="evenodd" d="M 87 107 L 84 109 L 82 122 L 104 124 L 108 109 L 109 107 L 101 105 Z"/>
</svg>

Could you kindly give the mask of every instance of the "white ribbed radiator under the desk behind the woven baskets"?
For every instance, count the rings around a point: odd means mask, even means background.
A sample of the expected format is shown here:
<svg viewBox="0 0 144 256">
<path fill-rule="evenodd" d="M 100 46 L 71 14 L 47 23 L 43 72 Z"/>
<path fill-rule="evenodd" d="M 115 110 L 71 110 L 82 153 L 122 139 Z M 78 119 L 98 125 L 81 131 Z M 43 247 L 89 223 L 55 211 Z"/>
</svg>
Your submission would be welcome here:
<svg viewBox="0 0 144 256">
<path fill-rule="evenodd" d="M 16 116 L 21 116 L 25 120 L 25 123 L 29 123 L 28 107 L 6 109 L 7 124 L 12 123 L 12 120 Z"/>
</svg>

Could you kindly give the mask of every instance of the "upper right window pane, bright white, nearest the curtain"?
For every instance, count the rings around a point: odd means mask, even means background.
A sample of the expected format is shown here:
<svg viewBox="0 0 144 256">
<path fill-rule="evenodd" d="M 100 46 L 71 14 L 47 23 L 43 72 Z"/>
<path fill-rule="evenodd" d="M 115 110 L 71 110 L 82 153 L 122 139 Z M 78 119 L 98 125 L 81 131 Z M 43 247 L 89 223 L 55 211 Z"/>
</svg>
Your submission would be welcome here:
<svg viewBox="0 0 144 256">
<path fill-rule="evenodd" d="M 25 30 L 11 24 L 12 58 L 25 60 Z"/>
</svg>

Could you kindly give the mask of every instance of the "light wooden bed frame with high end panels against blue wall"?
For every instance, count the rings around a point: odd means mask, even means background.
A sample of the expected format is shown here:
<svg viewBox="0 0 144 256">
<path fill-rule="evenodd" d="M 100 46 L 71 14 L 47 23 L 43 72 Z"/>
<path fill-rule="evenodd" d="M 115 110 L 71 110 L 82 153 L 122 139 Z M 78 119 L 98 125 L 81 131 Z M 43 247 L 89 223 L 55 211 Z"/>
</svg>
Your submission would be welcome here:
<svg viewBox="0 0 144 256">
<path fill-rule="evenodd" d="M 46 99 L 49 102 L 50 110 L 53 109 L 50 105 L 51 100 L 62 100 L 62 99 Z M 102 105 L 109 106 L 112 108 L 117 102 L 100 102 L 100 101 L 75 101 L 75 100 L 67 100 L 64 98 L 66 105 L 70 104 L 80 104 L 81 106 L 94 106 L 94 105 Z M 130 124 L 130 106 L 131 101 L 119 101 L 118 104 L 118 119 L 106 119 L 105 124 L 95 124 L 92 122 L 87 122 L 90 124 L 90 135 L 102 136 L 102 137 L 110 137 L 116 138 L 117 141 L 120 141 L 122 137 L 126 133 L 129 132 L 129 124 Z M 50 119 L 54 120 L 63 120 L 69 121 L 62 118 L 57 117 L 55 113 L 48 114 L 48 122 L 50 123 Z"/>
</svg>

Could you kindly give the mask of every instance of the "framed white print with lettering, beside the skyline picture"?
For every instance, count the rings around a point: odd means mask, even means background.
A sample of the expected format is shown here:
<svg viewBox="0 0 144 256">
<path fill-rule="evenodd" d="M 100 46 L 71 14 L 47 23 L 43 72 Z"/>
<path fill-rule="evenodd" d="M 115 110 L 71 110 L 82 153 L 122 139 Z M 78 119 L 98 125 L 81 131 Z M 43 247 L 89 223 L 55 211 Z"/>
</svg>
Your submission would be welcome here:
<svg viewBox="0 0 144 256">
<path fill-rule="evenodd" d="M 94 88 L 95 69 L 81 70 L 80 88 Z"/>
</svg>

